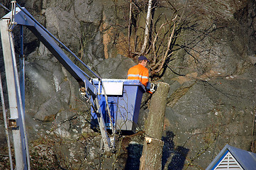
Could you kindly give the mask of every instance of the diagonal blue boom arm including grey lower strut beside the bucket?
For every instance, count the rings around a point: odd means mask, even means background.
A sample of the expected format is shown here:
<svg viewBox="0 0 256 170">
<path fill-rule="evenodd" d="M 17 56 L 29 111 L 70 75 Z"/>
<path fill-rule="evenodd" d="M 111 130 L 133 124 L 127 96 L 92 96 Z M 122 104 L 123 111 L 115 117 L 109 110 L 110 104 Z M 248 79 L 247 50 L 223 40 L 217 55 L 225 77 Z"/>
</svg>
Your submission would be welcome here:
<svg viewBox="0 0 256 170">
<path fill-rule="evenodd" d="M 52 53 L 52 55 L 54 55 L 57 58 L 57 60 L 65 67 L 65 69 L 67 69 L 67 71 L 72 75 L 72 77 L 74 77 L 74 79 L 78 81 L 79 85 L 82 86 L 82 89 L 83 89 L 82 95 L 89 98 L 89 102 L 91 103 L 92 108 L 94 108 L 94 111 L 98 116 L 99 128 L 101 130 L 101 135 L 104 142 L 104 149 L 106 152 L 109 152 L 112 146 L 106 132 L 106 125 L 104 123 L 101 107 L 99 106 L 99 101 L 97 98 L 98 91 L 96 87 L 93 84 L 91 84 L 89 79 L 87 79 L 89 78 L 88 75 L 85 74 L 82 71 L 82 69 L 77 67 L 77 65 L 74 64 L 69 59 L 69 57 L 67 57 L 65 52 L 63 52 L 62 49 L 57 45 L 57 43 L 55 42 L 57 38 L 51 35 L 48 32 L 48 30 L 46 30 L 42 25 L 40 25 L 40 23 L 38 23 L 38 21 L 36 21 L 35 18 L 33 18 L 33 16 L 30 15 L 30 13 L 26 10 L 26 8 L 22 8 L 21 6 L 16 7 L 14 12 L 11 11 L 10 13 L 6 14 L 6 16 L 1 18 L 0 22 L 1 22 L 1 35 L 10 34 L 13 27 L 16 25 L 26 26 L 38 38 L 38 40 L 43 42 L 45 47 L 47 47 L 48 50 Z M 9 36 L 9 40 L 6 40 L 6 39 L 3 40 L 3 38 L 1 39 L 2 39 L 2 43 L 13 42 L 12 35 Z M 4 45 L 3 45 L 3 51 L 4 50 L 7 50 L 7 51 L 10 50 L 10 53 L 14 52 L 14 50 L 11 50 L 11 49 L 4 49 Z M 15 54 L 13 54 L 13 56 L 15 56 Z"/>
</svg>

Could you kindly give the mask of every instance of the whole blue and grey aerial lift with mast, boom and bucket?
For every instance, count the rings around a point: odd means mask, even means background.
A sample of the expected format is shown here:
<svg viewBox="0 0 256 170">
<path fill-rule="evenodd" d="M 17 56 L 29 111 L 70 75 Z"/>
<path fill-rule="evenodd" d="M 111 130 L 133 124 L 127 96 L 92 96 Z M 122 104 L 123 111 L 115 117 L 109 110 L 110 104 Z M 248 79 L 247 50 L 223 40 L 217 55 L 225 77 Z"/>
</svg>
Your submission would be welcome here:
<svg viewBox="0 0 256 170">
<path fill-rule="evenodd" d="M 12 132 L 13 147 L 15 151 L 16 169 L 30 169 L 30 156 L 28 151 L 28 139 L 25 123 L 25 72 L 23 55 L 23 26 L 26 26 L 48 48 L 60 64 L 79 83 L 79 91 L 91 106 L 91 120 L 99 125 L 101 137 L 106 152 L 111 152 L 115 145 L 115 139 L 111 139 L 107 131 L 116 134 L 118 130 L 135 132 L 138 121 L 140 103 L 145 88 L 138 80 L 127 79 L 101 79 L 89 67 L 84 64 L 74 53 L 60 40 L 57 40 L 46 28 L 19 6 L 16 1 L 11 1 L 11 11 L 0 20 L 1 45 L 4 56 L 6 84 L 8 91 L 10 118 L 6 118 L 4 106 L 4 93 L 0 81 L 1 103 L 4 113 L 6 137 L 9 145 L 9 157 L 11 169 L 11 148 L 9 129 Z M 21 54 L 18 71 L 16 53 L 14 51 L 13 28 L 20 26 L 21 30 Z M 72 60 L 62 51 L 62 48 L 75 57 L 94 77 L 77 67 Z M 19 75 L 18 75 L 19 74 Z M 1 77 L 0 77 L 1 80 Z M 95 121 L 96 120 L 96 121 Z M 8 123 L 7 123 L 8 122 Z M 113 135 L 114 136 L 114 135 Z"/>
</svg>

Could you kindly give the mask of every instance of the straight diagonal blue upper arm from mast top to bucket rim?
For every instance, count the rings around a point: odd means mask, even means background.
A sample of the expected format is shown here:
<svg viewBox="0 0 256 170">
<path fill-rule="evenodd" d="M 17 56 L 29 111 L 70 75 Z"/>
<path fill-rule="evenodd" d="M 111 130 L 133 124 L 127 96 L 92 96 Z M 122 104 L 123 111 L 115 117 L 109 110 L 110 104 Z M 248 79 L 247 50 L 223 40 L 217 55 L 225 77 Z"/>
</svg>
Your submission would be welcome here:
<svg viewBox="0 0 256 170">
<path fill-rule="evenodd" d="M 82 70 L 77 67 L 77 65 L 74 64 L 74 62 L 72 62 L 72 60 L 67 57 L 65 52 L 63 52 L 63 50 L 57 45 L 55 42 L 57 38 L 53 40 L 53 35 L 49 34 L 49 32 L 42 25 L 40 25 L 40 23 L 38 23 L 35 18 L 33 18 L 33 16 L 30 15 L 26 8 L 17 7 L 15 15 L 12 16 L 10 12 L 1 19 L 11 19 L 12 21 L 10 22 L 13 27 L 15 25 L 26 26 L 38 38 L 38 40 L 43 42 L 43 45 L 48 48 L 52 55 L 56 57 L 56 59 L 63 65 L 63 67 L 65 67 L 65 69 L 67 69 L 72 77 L 74 77 L 74 79 L 76 79 L 80 85 L 84 86 L 86 91 L 88 91 L 91 96 L 96 96 L 96 88 L 87 79 L 87 75 L 85 75 L 84 72 L 82 72 Z"/>
</svg>

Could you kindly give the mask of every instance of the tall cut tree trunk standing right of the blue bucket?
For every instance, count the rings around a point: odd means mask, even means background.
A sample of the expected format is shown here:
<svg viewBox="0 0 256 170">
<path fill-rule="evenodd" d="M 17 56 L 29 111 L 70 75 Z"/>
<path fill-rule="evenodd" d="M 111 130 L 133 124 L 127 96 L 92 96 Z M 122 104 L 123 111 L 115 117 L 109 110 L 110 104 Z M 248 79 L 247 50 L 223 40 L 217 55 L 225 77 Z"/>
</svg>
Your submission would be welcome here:
<svg viewBox="0 0 256 170">
<path fill-rule="evenodd" d="M 145 123 L 145 140 L 140 157 L 140 170 L 162 169 L 162 132 L 169 84 L 160 82 L 152 94 L 150 112 Z"/>
</svg>

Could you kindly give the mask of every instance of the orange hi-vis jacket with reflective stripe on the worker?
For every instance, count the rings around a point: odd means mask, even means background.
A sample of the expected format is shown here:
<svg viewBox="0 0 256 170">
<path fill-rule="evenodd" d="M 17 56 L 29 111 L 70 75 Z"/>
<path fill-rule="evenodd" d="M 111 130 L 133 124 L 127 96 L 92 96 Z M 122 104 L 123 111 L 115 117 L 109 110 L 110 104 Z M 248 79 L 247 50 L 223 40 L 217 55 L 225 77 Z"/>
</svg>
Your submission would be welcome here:
<svg viewBox="0 0 256 170">
<path fill-rule="evenodd" d="M 148 69 L 141 64 L 137 64 L 130 67 L 128 70 L 127 79 L 138 79 L 144 86 L 147 86 L 148 75 Z"/>
</svg>

